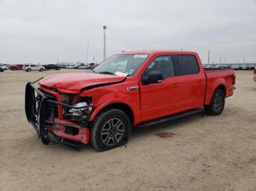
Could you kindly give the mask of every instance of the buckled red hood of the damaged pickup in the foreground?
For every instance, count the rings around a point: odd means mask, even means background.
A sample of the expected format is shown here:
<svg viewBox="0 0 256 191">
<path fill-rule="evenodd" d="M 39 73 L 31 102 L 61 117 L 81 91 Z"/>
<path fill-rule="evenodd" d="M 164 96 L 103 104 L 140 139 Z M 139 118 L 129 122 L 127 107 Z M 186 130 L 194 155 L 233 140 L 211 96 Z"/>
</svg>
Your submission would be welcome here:
<svg viewBox="0 0 256 191">
<path fill-rule="evenodd" d="M 39 81 L 39 85 L 56 88 L 60 93 L 80 93 L 84 87 L 122 82 L 126 77 L 95 73 L 55 74 Z"/>
</svg>

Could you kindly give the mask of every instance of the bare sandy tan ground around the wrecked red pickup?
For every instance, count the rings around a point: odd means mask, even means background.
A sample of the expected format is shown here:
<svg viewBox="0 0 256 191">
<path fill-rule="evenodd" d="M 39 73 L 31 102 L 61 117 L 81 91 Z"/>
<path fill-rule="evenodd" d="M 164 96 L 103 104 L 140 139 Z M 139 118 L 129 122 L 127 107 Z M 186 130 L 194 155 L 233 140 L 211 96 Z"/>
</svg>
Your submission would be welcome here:
<svg viewBox="0 0 256 191">
<path fill-rule="evenodd" d="M 133 129 L 107 152 L 45 146 L 26 121 L 26 82 L 70 71 L 0 73 L 0 190 L 256 190 L 252 71 L 236 71 L 222 115 Z"/>
</svg>

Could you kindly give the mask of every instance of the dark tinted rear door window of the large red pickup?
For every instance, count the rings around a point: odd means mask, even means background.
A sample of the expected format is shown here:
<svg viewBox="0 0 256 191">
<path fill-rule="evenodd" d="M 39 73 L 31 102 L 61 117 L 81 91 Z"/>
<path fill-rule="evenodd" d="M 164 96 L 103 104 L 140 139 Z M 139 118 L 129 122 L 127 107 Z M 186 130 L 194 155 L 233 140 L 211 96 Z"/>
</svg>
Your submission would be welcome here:
<svg viewBox="0 0 256 191">
<path fill-rule="evenodd" d="M 176 55 L 178 61 L 178 76 L 197 74 L 199 67 L 195 55 Z"/>
</svg>

